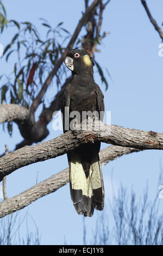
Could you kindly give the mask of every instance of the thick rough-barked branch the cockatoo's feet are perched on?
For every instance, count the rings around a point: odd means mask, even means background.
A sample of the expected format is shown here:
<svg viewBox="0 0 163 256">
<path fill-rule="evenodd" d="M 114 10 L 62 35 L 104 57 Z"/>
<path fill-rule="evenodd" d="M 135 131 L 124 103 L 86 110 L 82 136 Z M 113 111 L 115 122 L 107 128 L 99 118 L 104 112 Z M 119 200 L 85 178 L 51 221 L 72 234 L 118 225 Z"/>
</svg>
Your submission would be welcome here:
<svg viewBox="0 0 163 256">
<path fill-rule="evenodd" d="M 163 149 L 163 133 L 125 129 L 116 125 L 104 125 L 95 120 L 93 129 L 68 131 L 64 135 L 34 146 L 18 149 L 0 159 L 0 181 L 14 170 L 29 164 L 45 161 L 66 154 L 82 143 L 97 141 L 137 149 Z M 77 126 L 77 129 L 80 125 Z"/>
</svg>

